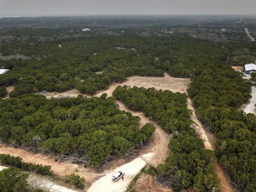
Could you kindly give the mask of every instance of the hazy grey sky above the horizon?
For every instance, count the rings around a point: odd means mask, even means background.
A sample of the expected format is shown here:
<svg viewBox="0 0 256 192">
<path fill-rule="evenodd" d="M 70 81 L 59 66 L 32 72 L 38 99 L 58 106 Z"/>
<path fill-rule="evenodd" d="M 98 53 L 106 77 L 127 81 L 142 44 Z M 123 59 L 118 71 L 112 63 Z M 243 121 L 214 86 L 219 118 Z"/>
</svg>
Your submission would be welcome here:
<svg viewBox="0 0 256 192">
<path fill-rule="evenodd" d="M 256 0 L 0 0 L 0 16 L 256 14 Z"/>
</svg>

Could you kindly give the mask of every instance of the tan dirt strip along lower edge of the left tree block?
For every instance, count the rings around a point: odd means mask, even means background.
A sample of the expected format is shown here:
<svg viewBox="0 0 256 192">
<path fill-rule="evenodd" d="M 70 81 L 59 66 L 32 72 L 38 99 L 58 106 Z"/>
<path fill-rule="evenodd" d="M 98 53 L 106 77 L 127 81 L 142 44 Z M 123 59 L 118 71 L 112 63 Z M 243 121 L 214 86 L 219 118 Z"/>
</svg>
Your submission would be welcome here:
<svg viewBox="0 0 256 192">
<path fill-rule="evenodd" d="M 42 154 L 33 154 L 23 149 L 5 147 L 0 145 L 0 154 L 10 154 L 13 156 L 19 156 L 23 159 L 24 162 L 51 165 L 51 170 L 55 174 L 60 174 L 62 176 L 65 174 L 71 174 L 76 172 L 77 174 L 81 175 L 81 177 L 84 177 L 86 180 L 91 180 L 97 177 L 97 175 L 99 175 L 92 169 L 84 168 L 82 165 L 76 165 L 68 162 L 55 162 L 55 158 L 53 157 L 45 156 Z"/>
</svg>

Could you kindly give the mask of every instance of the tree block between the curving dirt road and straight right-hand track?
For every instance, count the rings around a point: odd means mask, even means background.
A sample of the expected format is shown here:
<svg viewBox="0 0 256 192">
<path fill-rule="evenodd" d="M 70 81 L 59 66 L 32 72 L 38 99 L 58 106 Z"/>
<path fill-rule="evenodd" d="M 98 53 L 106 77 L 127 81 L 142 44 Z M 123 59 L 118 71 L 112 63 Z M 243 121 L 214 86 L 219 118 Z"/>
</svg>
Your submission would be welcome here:
<svg viewBox="0 0 256 192">
<path fill-rule="evenodd" d="M 156 174 L 160 183 L 174 191 L 193 187 L 195 191 L 219 191 L 215 155 L 204 149 L 191 124 L 187 95 L 143 87 L 117 86 L 113 96 L 133 110 L 142 111 L 172 135 L 170 154 Z"/>
</svg>

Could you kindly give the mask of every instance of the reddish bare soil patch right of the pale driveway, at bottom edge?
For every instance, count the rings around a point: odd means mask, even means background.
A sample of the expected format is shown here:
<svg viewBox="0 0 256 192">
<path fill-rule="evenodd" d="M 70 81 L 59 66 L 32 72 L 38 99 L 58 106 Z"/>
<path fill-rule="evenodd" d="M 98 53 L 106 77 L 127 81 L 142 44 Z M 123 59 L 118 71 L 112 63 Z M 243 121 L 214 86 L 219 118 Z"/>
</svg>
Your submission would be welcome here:
<svg viewBox="0 0 256 192">
<path fill-rule="evenodd" d="M 138 192 L 172 192 L 169 188 L 157 185 L 154 177 L 146 174 L 140 175 L 140 178 L 137 180 L 134 188 Z"/>
</svg>

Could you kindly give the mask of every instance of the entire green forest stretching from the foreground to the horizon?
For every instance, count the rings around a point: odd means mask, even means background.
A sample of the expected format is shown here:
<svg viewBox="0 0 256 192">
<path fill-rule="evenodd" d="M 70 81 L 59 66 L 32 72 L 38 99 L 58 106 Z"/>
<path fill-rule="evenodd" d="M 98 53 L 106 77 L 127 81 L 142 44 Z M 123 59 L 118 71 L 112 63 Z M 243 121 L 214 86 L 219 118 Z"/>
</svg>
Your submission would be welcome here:
<svg viewBox="0 0 256 192">
<path fill-rule="evenodd" d="M 54 25 L 55 20 L 49 22 Z M 177 22 L 174 28 L 180 27 Z M 220 28 L 218 22 L 214 21 L 214 26 Z M 110 20 L 106 23 L 115 25 Z M 246 27 L 229 19 L 227 23 L 228 29 Z M 147 124 L 139 130 L 139 117 L 118 110 L 114 99 L 106 95 L 47 100 L 31 93 L 77 89 L 93 95 L 133 75 L 162 77 L 167 72 L 173 77 L 191 78 L 188 96 L 201 122 L 217 138 L 216 154 L 203 148 L 190 127 L 185 94 L 117 87 L 113 93 L 116 99 L 143 111 L 172 134 L 171 153 L 157 167 L 158 180 L 176 191 L 188 187 L 211 191 L 219 183 L 213 166 L 216 155 L 235 187 L 254 191 L 256 118 L 237 110 L 250 99 L 252 84 L 230 65 L 253 62 L 255 42 L 213 43 L 177 30 L 161 36 L 155 31 L 162 31 L 165 23 L 155 24 L 147 30 L 97 26 L 82 35 L 77 22 L 75 28 L 61 23 L 58 29 L 1 29 L 0 68 L 10 71 L 0 75 L 0 97 L 7 94 L 7 86 L 14 85 L 15 89 L 9 99 L 0 100 L 0 137 L 7 143 L 75 156 L 86 165 L 101 166 L 147 143 L 155 127 Z M 185 27 L 191 29 L 194 24 L 211 26 L 191 21 Z"/>
</svg>

